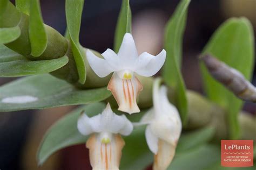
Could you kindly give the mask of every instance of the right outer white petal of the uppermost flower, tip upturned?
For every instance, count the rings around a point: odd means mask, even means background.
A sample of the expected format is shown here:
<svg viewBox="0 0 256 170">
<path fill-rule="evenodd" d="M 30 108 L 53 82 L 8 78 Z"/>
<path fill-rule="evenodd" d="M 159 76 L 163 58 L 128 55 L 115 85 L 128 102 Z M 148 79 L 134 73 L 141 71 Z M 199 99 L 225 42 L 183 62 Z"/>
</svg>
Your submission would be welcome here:
<svg viewBox="0 0 256 170">
<path fill-rule="evenodd" d="M 143 53 L 143 55 L 151 55 L 151 54 Z M 151 61 L 146 66 L 138 70 L 134 70 L 134 72 L 145 77 L 152 76 L 156 74 L 164 65 L 165 58 L 166 58 L 166 51 L 163 49 L 157 56 L 152 55 Z"/>
</svg>

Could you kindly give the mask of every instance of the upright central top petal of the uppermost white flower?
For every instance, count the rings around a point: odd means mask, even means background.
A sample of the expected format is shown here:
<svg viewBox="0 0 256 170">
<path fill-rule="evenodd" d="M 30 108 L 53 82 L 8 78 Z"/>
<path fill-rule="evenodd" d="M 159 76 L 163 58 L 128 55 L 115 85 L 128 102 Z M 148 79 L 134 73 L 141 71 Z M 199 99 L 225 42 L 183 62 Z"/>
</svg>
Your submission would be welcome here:
<svg viewBox="0 0 256 170">
<path fill-rule="evenodd" d="M 138 58 L 138 52 L 132 34 L 125 33 L 118 56 L 120 61 L 123 62 L 125 69 L 129 69 L 134 65 L 134 62 Z"/>
</svg>

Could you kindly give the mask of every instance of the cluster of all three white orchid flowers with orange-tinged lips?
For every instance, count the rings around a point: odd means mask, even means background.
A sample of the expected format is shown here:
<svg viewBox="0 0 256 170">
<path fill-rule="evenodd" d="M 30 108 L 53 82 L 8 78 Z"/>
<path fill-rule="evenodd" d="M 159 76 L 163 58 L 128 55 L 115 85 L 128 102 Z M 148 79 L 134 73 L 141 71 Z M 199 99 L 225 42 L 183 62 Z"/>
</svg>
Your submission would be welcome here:
<svg viewBox="0 0 256 170">
<path fill-rule="evenodd" d="M 152 76 L 164 65 L 166 51 L 158 55 L 142 53 L 138 56 L 136 45 L 130 33 L 123 38 L 119 52 L 111 49 L 102 53 L 104 59 L 93 54 L 89 49 L 86 57 L 92 70 L 105 77 L 113 72 L 107 86 L 118 103 L 118 110 L 134 114 L 139 112 L 137 96 L 143 89 L 136 74 Z M 153 108 L 143 116 L 139 123 L 132 123 L 125 115 L 116 115 L 108 103 L 103 112 L 93 117 L 82 114 L 78 119 L 78 130 L 85 136 L 89 148 L 92 169 L 119 169 L 122 148 L 125 145 L 121 135 L 128 136 L 133 128 L 147 125 L 145 137 L 153 152 L 153 169 L 166 169 L 174 156 L 181 133 L 181 121 L 178 110 L 167 98 L 167 88 L 160 87 L 160 79 L 153 85 Z"/>
</svg>

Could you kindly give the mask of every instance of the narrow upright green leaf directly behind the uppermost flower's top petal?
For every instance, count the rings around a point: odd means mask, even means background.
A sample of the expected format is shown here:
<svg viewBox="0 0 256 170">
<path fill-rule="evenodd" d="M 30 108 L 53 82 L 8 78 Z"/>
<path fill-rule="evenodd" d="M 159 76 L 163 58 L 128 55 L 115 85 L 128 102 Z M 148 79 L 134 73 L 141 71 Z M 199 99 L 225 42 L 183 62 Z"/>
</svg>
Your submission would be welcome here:
<svg viewBox="0 0 256 170">
<path fill-rule="evenodd" d="M 122 7 L 118 16 L 116 32 L 114 34 L 114 51 L 117 53 L 126 32 L 131 33 L 132 12 L 129 0 L 123 0 Z"/>
</svg>

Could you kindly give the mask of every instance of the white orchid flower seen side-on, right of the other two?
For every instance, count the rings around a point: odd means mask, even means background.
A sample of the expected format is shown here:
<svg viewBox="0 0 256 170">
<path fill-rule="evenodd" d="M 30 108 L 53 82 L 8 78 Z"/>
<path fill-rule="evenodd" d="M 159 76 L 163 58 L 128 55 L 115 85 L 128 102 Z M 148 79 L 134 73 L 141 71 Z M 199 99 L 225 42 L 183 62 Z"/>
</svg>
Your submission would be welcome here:
<svg viewBox="0 0 256 170">
<path fill-rule="evenodd" d="M 146 141 L 154 156 L 154 170 L 169 167 L 174 157 L 181 133 L 179 112 L 167 98 L 167 88 L 160 86 L 160 79 L 153 85 L 153 108 L 142 118 L 146 127 Z"/>
</svg>

